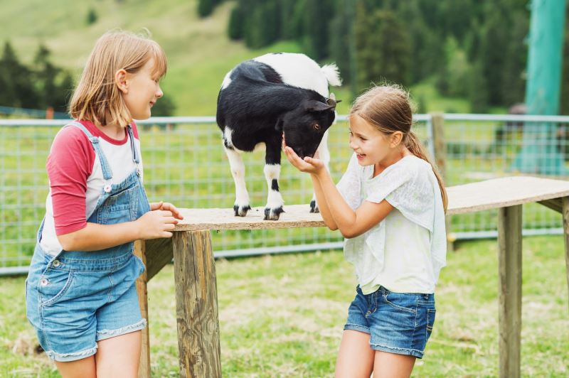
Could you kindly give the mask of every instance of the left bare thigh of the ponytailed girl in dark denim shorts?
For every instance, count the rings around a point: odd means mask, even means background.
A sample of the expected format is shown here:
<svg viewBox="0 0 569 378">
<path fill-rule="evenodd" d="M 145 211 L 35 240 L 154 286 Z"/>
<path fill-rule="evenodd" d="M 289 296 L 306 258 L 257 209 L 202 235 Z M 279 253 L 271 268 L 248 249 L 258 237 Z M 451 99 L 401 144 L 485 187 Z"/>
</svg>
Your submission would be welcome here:
<svg viewBox="0 0 569 378">
<path fill-rule="evenodd" d="M 369 346 L 369 334 L 345 330 L 336 361 L 336 378 L 369 378 L 375 351 Z"/>
</svg>

